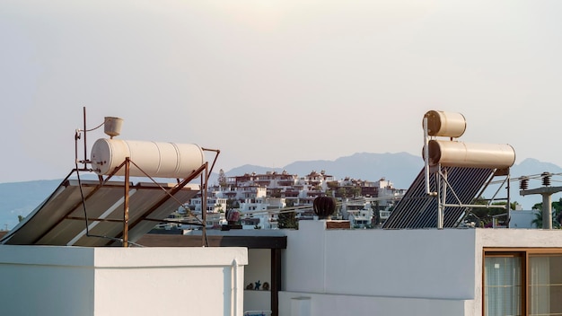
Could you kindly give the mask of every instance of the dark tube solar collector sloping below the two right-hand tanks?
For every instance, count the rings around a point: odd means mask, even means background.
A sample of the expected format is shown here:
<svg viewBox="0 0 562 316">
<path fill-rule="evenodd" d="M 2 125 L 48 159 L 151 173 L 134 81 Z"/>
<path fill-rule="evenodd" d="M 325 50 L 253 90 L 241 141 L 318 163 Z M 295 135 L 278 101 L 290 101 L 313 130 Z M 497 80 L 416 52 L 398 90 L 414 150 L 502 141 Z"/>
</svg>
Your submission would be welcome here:
<svg viewBox="0 0 562 316">
<path fill-rule="evenodd" d="M 445 204 L 468 205 L 478 198 L 479 191 L 491 179 L 494 169 L 443 167 L 447 172 L 447 195 Z M 437 191 L 436 173 L 430 175 L 429 187 Z M 454 192 L 454 194 L 453 194 Z M 415 229 L 437 227 L 437 197 L 426 194 L 425 169 L 406 191 L 404 198 L 394 207 L 391 215 L 382 224 L 385 229 Z M 465 214 L 466 206 L 446 206 L 443 211 L 443 228 L 456 227 Z"/>
</svg>

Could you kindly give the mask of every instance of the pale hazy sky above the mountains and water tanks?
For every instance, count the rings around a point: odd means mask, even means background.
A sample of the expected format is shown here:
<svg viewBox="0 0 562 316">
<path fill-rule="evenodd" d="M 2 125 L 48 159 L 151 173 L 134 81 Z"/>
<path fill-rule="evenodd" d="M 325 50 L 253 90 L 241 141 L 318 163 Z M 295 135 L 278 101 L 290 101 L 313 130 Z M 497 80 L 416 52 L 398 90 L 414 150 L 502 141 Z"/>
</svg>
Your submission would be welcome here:
<svg viewBox="0 0 562 316">
<path fill-rule="evenodd" d="M 561 15 L 554 0 L 4 0 L 0 182 L 65 178 L 84 111 L 87 127 L 123 118 L 121 139 L 218 149 L 215 171 L 420 155 L 428 110 L 461 113 L 461 141 L 562 165 Z"/>
</svg>

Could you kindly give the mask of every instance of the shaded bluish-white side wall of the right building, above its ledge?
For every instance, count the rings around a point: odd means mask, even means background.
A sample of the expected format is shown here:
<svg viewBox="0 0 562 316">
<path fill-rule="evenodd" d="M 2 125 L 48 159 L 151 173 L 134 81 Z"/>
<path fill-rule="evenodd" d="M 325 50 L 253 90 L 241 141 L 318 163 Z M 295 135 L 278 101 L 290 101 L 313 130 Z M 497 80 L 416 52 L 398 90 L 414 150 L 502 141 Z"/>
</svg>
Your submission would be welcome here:
<svg viewBox="0 0 562 316">
<path fill-rule="evenodd" d="M 324 230 L 324 223 L 302 221 L 288 232 L 286 291 L 474 298 L 474 230 Z"/>
</svg>

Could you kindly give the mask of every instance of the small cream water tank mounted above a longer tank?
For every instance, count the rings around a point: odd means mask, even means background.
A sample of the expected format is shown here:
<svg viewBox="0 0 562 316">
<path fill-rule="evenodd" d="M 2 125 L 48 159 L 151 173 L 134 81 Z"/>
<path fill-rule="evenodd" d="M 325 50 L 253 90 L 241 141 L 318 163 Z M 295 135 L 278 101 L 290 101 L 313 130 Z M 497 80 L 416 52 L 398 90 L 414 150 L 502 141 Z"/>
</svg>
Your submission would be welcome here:
<svg viewBox="0 0 562 316">
<path fill-rule="evenodd" d="M 461 137 L 466 130 L 466 119 L 461 113 L 430 110 L 424 118 L 429 136 Z"/>
</svg>

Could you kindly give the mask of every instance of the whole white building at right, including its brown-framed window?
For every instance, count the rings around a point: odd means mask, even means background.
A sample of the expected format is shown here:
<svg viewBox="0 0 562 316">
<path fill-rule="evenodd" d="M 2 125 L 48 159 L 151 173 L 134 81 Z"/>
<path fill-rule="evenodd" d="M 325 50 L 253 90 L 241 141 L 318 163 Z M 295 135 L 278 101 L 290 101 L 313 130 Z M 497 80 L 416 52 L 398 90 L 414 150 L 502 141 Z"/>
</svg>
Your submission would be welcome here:
<svg viewBox="0 0 562 316">
<path fill-rule="evenodd" d="M 560 230 L 329 230 L 326 223 L 287 231 L 279 315 L 562 312 Z"/>
</svg>

